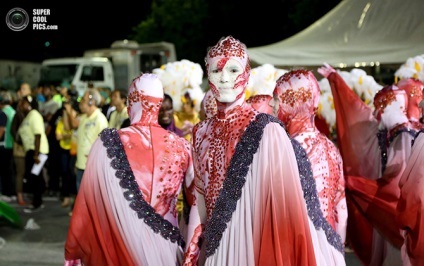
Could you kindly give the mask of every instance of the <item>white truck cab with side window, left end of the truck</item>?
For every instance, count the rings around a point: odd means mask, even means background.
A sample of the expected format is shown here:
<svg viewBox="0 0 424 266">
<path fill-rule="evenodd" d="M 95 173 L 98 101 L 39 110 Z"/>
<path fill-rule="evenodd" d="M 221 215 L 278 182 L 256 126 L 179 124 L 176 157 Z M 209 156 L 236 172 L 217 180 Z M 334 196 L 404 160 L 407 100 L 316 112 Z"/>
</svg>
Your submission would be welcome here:
<svg viewBox="0 0 424 266">
<path fill-rule="evenodd" d="M 89 83 L 95 88 L 114 88 L 112 64 L 106 57 L 69 57 L 46 59 L 41 64 L 40 84 L 60 86 L 72 84 L 79 96 Z"/>
</svg>

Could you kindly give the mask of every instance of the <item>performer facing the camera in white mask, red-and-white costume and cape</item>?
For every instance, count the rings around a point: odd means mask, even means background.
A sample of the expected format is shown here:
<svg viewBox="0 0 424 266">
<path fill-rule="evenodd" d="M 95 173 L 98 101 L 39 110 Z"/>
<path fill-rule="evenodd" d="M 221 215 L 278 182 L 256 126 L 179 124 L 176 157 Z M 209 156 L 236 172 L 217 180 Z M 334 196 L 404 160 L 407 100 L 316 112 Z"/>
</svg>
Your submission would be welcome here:
<svg viewBox="0 0 424 266">
<path fill-rule="evenodd" d="M 193 128 L 185 265 L 345 265 L 305 150 L 277 118 L 245 101 L 246 46 L 222 38 L 209 49 L 206 70 L 218 112 Z"/>
</svg>

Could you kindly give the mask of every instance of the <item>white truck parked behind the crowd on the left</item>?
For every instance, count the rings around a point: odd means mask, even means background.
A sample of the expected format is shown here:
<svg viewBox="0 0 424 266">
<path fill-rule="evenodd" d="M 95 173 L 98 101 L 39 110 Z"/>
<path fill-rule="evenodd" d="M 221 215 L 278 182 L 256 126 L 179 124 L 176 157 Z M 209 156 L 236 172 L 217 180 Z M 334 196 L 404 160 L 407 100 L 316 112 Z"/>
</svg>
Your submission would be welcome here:
<svg viewBox="0 0 424 266">
<path fill-rule="evenodd" d="M 174 44 L 115 41 L 110 48 L 84 52 L 83 57 L 54 58 L 42 62 L 40 83 L 72 84 L 80 96 L 89 83 L 96 88 L 128 89 L 140 72 L 151 72 L 176 61 Z"/>
</svg>

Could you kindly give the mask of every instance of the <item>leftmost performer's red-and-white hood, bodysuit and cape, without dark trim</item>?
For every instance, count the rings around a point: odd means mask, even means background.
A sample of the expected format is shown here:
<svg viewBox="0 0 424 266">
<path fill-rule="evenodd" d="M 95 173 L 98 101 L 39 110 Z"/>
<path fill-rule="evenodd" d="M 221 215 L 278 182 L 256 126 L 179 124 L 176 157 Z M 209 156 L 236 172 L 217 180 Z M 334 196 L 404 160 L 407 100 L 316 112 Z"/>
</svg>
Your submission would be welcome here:
<svg viewBox="0 0 424 266">
<path fill-rule="evenodd" d="M 160 95 L 160 97 L 156 97 Z M 131 126 L 119 137 L 144 200 L 178 226 L 176 202 L 185 180 L 193 180 L 191 146 L 158 124 L 162 84 L 155 75 L 137 77 L 129 90 Z M 155 233 L 130 208 L 97 139 L 88 157 L 65 244 L 65 264 L 178 265 L 183 250 Z"/>
</svg>

